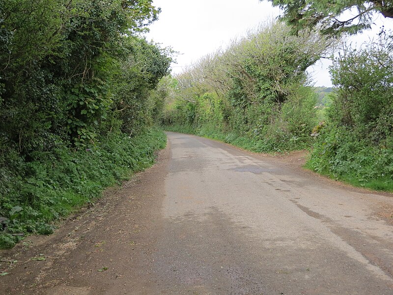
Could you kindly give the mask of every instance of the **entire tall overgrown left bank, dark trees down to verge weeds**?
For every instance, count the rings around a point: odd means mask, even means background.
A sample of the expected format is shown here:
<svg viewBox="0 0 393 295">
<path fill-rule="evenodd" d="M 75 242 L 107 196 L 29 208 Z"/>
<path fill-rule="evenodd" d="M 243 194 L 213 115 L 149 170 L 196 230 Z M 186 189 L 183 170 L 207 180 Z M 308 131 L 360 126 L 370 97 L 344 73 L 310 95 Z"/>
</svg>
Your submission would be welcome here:
<svg viewBox="0 0 393 295">
<path fill-rule="evenodd" d="M 151 0 L 0 0 L 0 247 L 152 161 L 171 50 Z M 154 147 L 154 148 L 153 148 Z"/>
</svg>

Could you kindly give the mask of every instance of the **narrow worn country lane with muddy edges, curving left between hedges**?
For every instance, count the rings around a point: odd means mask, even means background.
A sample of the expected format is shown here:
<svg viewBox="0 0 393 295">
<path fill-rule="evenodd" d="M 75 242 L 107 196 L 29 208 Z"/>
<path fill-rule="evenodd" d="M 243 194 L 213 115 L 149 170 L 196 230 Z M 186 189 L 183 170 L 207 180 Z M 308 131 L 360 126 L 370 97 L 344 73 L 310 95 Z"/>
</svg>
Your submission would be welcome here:
<svg viewBox="0 0 393 295">
<path fill-rule="evenodd" d="M 168 133 L 151 169 L 0 252 L 0 293 L 392 295 L 392 195 L 296 161 Z"/>
</svg>

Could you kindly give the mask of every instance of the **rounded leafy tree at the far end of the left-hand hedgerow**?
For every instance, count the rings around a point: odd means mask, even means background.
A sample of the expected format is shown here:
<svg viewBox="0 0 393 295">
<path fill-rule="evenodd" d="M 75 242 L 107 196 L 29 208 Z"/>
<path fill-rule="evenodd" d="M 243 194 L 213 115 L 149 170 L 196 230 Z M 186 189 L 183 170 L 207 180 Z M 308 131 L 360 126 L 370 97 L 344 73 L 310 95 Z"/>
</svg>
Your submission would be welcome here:
<svg viewBox="0 0 393 295">
<path fill-rule="evenodd" d="M 159 80 L 168 73 L 170 52 L 145 39 L 128 37 L 127 50 L 132 53 L 120 63 L 119 83 L 114 91 L 114 112 L 121 119 L 121 130 L 136 134 L 140 127 L 152 124 L 152 115 L 159 101 L 150 99 Z"/>
</svg>

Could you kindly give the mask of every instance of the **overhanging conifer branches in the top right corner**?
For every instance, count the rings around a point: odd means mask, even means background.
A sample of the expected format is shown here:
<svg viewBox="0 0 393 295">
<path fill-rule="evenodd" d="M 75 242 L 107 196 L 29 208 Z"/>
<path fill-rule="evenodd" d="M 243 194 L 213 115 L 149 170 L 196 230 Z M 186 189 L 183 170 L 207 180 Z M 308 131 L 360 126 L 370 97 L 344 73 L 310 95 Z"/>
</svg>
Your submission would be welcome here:
<svg viewBox="0 0 393 295">
<path fill-rule="evenodd" d="M 323 34 L 356 34 L 370 29 L 374 13 L 393 18 L 393 1 L 311 1 L 311 0 L 269 0 L 273 6 L 284 10 L 281 19 L 297 34 L 304 28 L 315 29 L 317 26 Z M 349 14 L 349 12 L 352 12 Z M 353 15 L 356 12 L 356 15 Z"/>
</svg>

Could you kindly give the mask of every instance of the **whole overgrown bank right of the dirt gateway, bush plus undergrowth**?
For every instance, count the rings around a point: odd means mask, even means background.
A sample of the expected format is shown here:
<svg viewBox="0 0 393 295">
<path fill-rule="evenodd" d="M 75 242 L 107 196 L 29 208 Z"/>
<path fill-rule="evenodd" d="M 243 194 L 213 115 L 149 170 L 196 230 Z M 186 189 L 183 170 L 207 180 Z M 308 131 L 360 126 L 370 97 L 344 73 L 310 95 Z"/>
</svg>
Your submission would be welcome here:
<svg viewBox="0 0 393 295">
<path fill-rule="evenodd" d="M 331 68 L 337 92 L 307 167 L 356 186 L 393 191 L 393 46 L 384 33 L 347 48 Z"/>
</svg>

